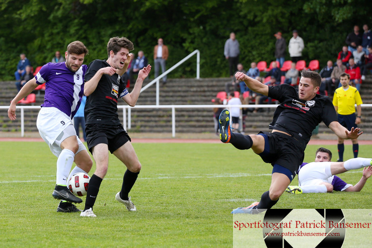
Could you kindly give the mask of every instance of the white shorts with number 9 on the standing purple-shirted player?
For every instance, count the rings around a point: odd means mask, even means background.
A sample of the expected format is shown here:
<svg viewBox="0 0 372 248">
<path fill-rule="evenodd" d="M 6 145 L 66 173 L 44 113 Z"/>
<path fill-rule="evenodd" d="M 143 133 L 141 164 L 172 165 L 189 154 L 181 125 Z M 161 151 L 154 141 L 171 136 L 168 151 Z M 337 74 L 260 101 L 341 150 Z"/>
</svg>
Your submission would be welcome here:
<svg viewBox="0 0 372 248">
<path fill-rule="evenodd" d="M 37 116 L 36 126 L 39 130 L 40 136 L 49 145 L 50 150 L 56 157 L 59 157 L 62 152 L 62 141 L 71 136 L 76 136 L 79 145 L 75 154 L 82 150 L 86 150 L 84 144 L 76 135 L 70 117 L 57 108 L 41 108 L 39 115 Z"/>
</svg>

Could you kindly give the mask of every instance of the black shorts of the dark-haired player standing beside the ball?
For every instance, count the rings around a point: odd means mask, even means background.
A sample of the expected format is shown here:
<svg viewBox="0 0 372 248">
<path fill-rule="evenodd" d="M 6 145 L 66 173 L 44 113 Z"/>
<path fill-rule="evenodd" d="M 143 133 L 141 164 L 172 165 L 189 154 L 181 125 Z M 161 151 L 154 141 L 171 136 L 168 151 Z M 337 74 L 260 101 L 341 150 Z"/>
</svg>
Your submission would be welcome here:
<svg viewBox="0 0 372 248">
<path fill-rule="evenodd" d="M 128 141 L 131 141 L 121 124 L 87 124 L 85 125 L 85 132 L 90 153 L 92 153 L 92 148 L 98 144 L 107 144 L 109 151 L 113 153 Z"/>
</svg>

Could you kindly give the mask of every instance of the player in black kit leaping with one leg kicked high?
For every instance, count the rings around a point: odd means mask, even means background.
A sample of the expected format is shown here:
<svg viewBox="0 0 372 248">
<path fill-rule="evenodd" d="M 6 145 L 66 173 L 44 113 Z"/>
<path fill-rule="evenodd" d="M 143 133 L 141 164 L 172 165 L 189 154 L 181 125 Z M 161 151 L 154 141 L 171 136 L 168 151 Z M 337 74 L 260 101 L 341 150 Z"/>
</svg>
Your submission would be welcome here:
<svg viewBox="0 0 372 248">
<path fill-rule="evenodd" d="M 328 97 L 317 95 L 321 83 L 315 71 L 303 70 L 298 89 L 288 84 L 268 86 L 260 81 L 237 72 L 235 78 L 244 81 L 254 92 L 269 96 L 280 102 L 270 124 L 271 133 L 260 132 L 243 135 L 232 133 L 230 115 L 224 110 L 220 115 L 220 139 L 231 143 L 237 149 L 252 148 L 262 160 L 273 166 L 270 189 L 264 192 L 260 202 L 249 207 L 237 208 L 232 213 L 256 214 L 274 206 L 290 185 L 298 167 L 303 162 L 304 150 L 311 137 L 311 131 L 323 121 L 339 137 L 357 138 L 359 128 L 348 131 L 337 122 L 336 111 Z"/>
</svg>

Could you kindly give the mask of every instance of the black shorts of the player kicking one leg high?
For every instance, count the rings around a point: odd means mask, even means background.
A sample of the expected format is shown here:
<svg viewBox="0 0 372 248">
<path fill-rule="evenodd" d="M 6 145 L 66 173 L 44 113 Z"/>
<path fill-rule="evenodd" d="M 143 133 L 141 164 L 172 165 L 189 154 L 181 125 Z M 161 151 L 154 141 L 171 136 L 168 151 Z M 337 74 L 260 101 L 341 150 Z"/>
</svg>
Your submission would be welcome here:
<svg viewBox="0 0 372 248">
<path fill-rule="evenodd" d="M 258 135 L 265 138 L 264 151 L 258 155 L 272 166 L 280 165 L 290 170 L 293 179 L 305 156 L 301 143 L 294 137 L 280 132 L 259 132 Z"/>
</svg>

